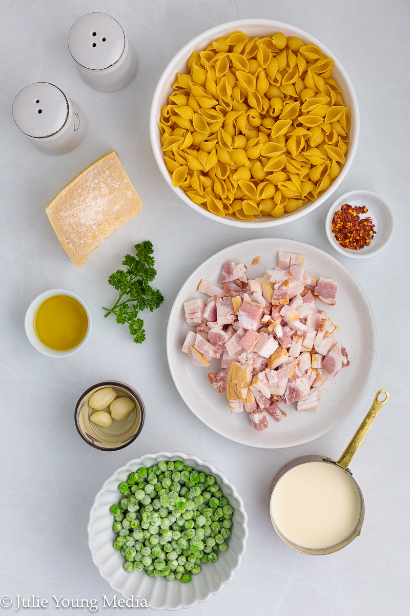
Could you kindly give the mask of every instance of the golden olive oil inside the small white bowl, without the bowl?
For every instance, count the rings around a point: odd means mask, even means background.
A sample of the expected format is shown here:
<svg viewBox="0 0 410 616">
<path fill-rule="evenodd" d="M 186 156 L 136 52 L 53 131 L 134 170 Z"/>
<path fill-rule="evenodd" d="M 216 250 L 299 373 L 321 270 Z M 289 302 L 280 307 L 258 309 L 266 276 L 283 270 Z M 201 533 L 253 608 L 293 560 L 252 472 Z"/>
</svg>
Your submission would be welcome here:
<svg viewBox="0 0 410 616">
<path fill-rule="evenodd" d="M 74 349 L 87 333 L 89 320 L 81 304 L 68 295 L 45 299 L 34 315 L 34 331 L 42 344 L 55 351 Z"/>
</svg>

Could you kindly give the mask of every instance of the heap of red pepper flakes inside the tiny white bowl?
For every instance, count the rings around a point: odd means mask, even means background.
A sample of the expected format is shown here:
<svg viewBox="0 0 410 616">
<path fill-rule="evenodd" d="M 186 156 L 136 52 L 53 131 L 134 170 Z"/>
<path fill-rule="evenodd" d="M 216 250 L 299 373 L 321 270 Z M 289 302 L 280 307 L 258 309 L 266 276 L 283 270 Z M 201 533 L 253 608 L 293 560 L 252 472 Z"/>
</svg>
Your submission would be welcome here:
<svg viewBox="0 0 410 616">
<path fill-rule="evenodd" d="M 369 216 L 366 218 L 359 216 L 367 211 L 366 206 L 352 207 L 344 203 L 341 209 L 333 214 L 332 235 L 342 248 L 360 250 L 373 240 L 376 231 L 372 219 Z"/>
</svg>

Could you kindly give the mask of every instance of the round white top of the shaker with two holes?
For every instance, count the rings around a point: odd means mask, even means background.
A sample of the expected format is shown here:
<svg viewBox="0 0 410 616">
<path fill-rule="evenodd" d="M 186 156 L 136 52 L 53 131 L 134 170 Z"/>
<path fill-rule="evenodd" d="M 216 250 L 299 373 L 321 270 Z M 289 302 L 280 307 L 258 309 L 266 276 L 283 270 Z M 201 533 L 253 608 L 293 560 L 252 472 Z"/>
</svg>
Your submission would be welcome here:
<svg viewBox="0 0 410 616">
<path fill-rule="evenodd" d="M 32 83 L 18 92 L 13 118 L 20 131 L 39 139 L 61 131 L 68 118 L 68 100 L 59 87 L 45 81 Z"/>
</svg>

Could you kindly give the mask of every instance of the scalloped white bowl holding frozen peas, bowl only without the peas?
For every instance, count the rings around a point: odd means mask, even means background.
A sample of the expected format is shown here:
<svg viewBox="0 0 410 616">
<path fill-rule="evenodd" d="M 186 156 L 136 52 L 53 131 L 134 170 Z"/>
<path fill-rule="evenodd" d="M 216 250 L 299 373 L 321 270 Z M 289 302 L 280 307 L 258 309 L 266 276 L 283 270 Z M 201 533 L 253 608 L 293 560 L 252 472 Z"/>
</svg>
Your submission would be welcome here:
<svg viewBox="0 0 410 616">
<path fill-rule="evenodd" d="M 113 517 L 109 508 L 121 498 L 119 484 L 127 479 L 130 472 L 136 471 L 140 466 L 148 468 L 161 460 L 169 459 L 182 460 L 184 464 L 189 464 L 199 472 L 214 475 L 224 496 L 234 508 L 232 534 L 229 537 L 227 551 L 219 552 L 216 562 L 201 565 L 200 573 L 193 575 L 189 583 L 183 583 L 180 580 L 168 582 L 165 578 L 149 577 L 144 571 L 133 570 L 127 573 L 123 567 L 124 556 L 112 545 L 116 535 L 112 530 Z M 232 580 L 245 553 L 248 538 L 247 522 L 248 516 L 243 507 L 242 498 L 223 472 L 194 455 L 181 452 L 158 452 L 130 460 L 104 482 L 90 509 L 87 532 L 93 562 L 112 590 L 124 599 L 134 598 L 135 602 L 138 597 L 140 606 L 141 601 L 145 599 L 146 605 L 151 609 L 176 610 L 205 601 L 213 594 L 219 593 L 223 586 Z"/>
</svg>

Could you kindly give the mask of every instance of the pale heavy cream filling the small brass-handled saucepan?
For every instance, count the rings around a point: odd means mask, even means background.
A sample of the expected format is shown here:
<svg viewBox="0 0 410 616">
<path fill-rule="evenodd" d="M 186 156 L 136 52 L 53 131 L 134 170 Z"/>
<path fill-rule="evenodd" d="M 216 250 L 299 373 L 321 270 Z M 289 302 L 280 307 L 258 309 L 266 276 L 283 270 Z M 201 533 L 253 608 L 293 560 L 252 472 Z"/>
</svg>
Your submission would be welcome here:
<svg viewBox="0 0 410 616">
<path fill-rule="evenodd" d="M 355 530 L 361 499 L 355 481 L 333 463 L 306 462 L 278 480 L 270 517 L 278 532 L 301 548 L 336 545 Z"/>
</svg>

